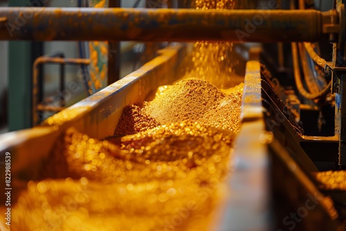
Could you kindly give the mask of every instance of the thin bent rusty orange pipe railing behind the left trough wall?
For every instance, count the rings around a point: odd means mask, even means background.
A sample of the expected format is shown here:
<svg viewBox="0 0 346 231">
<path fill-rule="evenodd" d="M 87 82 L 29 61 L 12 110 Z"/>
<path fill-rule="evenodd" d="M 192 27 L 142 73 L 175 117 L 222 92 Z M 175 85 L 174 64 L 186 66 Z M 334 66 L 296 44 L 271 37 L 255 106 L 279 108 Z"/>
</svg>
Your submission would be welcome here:
<svg viewBox="0 0 346 231">
<path fill-rule="evenodd" d="M 37 94 L 38 94 L 38 84 L 37 84 L 37 78 L 39 75 L 39 66 L 40 64 L 84 64 L 89 65 L 90 59 L 71 59 L 71 58 L 62 58 L 62 57 L 49 57 L 49 56 L 41 56 L 38 57 L 34 64 L 33 64 L 33 127 L 37 124 Z M 59 107 L 61 108 L 61 107 Z M 39 107 L 39 109 L 42 109 L 42 107 Z M 52 108 L 50 108 L 52 109 Z M 41 110 L 39 110 L 41 111 Z M 50 110 L 53 111 L 53 110 Z M 57 108 L 55 108 L 54 111 L 58 111 Z"/>
</svg>

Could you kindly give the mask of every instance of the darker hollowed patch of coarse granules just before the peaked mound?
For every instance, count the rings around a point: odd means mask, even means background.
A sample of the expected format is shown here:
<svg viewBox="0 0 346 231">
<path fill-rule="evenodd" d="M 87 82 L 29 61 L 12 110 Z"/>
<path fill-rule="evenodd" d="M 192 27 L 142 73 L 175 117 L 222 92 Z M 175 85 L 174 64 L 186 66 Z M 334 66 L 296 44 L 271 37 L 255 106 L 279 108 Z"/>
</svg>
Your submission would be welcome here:
<svg viewBox="0 0 346 231">
<path fill-rule="evenodd" d="M 215 153 L 227 154 L 234 137 L 230 131 L 197 122 L 176 122 L 125 136 L 121 148 L 137 162 L 183 161 L 195 167 Z"/>
</svg>

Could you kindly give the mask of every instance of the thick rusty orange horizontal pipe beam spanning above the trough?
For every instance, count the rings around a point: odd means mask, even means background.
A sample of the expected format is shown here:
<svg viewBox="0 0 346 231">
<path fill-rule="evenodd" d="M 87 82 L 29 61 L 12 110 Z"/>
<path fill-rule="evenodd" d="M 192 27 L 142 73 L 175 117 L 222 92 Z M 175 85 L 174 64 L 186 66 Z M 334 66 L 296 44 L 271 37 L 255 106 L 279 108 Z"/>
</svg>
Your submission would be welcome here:
<svg viewBox="0 0 346 231">
<path fill-rule="evenodd" d="M 316 10 L 0 8 L 1 40 L 319 41 Z"/>
</svg>

